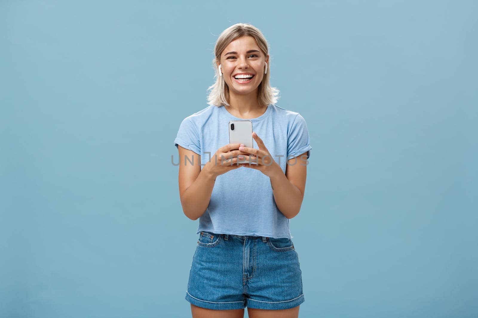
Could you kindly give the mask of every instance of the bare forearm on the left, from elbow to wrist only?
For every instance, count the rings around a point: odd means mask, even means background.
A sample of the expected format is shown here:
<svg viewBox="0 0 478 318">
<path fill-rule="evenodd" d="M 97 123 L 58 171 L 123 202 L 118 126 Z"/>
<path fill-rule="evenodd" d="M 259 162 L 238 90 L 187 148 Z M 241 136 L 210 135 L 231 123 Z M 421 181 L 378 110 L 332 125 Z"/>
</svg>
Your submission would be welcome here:
<svg viewBox="0 0 478 318">
<path fill-rule="evenodd" d="M 216 177 L 209 173 L 205 165 L 196 180 L 181 195 L 183 212 L 191 220 L 197 220 L 206 211 L 215 183 Z"/>
</svg>

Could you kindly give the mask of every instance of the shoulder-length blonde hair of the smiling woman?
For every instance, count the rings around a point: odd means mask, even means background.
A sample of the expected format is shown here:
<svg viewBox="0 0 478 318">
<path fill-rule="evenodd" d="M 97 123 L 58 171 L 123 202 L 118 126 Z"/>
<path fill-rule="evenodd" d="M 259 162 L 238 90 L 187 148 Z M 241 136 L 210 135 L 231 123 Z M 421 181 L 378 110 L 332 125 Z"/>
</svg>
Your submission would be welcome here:
<svg viewBox="0 0 478 318">
<path fill-rule="evenodd" d="M 248 23 L 236 23 L 226 30 L 222 31 L 217 38 L 216 45 L 214 47 L 214 59 L 212 60 L 213 67 L 216 70 L 216 82 L 209 86 L 207 90 L 210 90 L 207 97 L 209 105 L 215 105 L 217 107 L 224 105 L 229 106 L 229 87 L 224 82 L 223 76 L 219 76 L 219 69 L 217 68 L 217 62 L 220 63 L 221 53 L 226 49 L 230 42 L 242 37 L 242 36 L 252 36 L 256 39 L 257 45 L 259 48 L 266 54 L 269 52 L 268 44 L 261 31 L 255 26 Z M 277 103 L 279 99 L 279 90 L 275 87 L 271 87 L 269 82 L 270 74 L 270 65 L 267 63 L 267 73 L 264 74 L 262 82 L 258 87 L 257 99 L 261 106 L 267 106 L 269 104 Z"/>
</svg>

